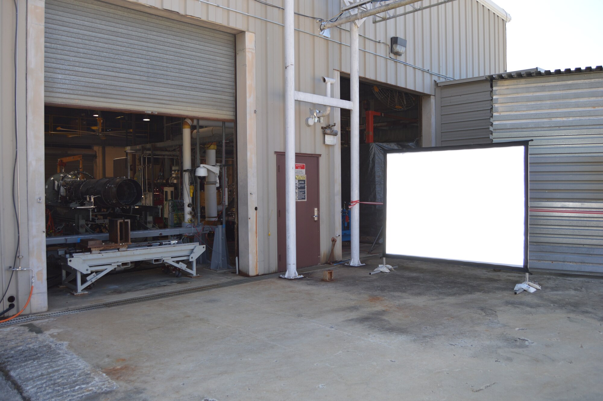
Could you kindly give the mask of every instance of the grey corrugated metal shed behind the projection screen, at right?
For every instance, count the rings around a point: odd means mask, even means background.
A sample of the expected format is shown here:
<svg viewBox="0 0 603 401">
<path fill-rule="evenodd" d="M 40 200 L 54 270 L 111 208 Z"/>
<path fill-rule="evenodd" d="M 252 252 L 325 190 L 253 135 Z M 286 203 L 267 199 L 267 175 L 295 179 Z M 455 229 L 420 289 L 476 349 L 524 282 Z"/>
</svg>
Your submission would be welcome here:
<svg viewBox="0 0 603 401">
<path fill-rule="evenodd" d="M 532 141 L 530 268 L 603 273 L 603 68 L 536 68 L 436 90 L 436 145 Z"/>
</svg>

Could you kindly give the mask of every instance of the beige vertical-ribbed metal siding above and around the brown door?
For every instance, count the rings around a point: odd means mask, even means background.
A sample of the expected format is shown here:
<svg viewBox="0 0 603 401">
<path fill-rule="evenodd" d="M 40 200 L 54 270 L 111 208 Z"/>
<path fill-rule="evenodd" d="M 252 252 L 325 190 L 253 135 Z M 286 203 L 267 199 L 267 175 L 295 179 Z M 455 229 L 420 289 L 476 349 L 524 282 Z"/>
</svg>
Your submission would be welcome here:
<svg viewBox="0 0 603 401">
<path fill-rule="evenodd" d="M 148 12 L 193 16 L 200 23 L 214 22 L 224 29 L 234 28 L 256 34 L 256 96 L 257 96 L 257 203 L 259 271 L 270 273 L 277 258 L 276 210 L 276 156 L 275 151 L 285 150 L 283 122 L 283 11 L 253 0 L 110 0 L 119 4 L 130 2 Z M 440 0 L 423 0 L 421 5 L 435 4 Z M 207 3 L 211 4 L 207 4 Z M 282 7 L 282 1 L 270 1 Z M 219 4 L 223 7 L 216 7 Z M 144 7 L 150 6 L 150 7 Z M 262 21 L 227 8 L 267 19 Z M 296 1 L 296 11 L 312 17 L 328 18 L 341 9 L 340 0 Z M 399 12 L 412 10 L 407 6 Z M 177 15 L 177 14 L 175 14 Z M 349 73 L 349 31 L 331 30 L 331 37 L 318 37 L 314 18 L 295 16 L 295 88 L 305 92 L 324 93 L 321 76 L 333 77 L 333 70 Z M 368 18 L 360 29 L 361 37 L 359 74 L 394 86 L 419 93 L 434 95 L 434 80 L 444 78 L 403 65 L 389 57 L 391 36 L 408 40 L 406 53 L 394 57 L 400 61 L 429 69 L 453 78 L 505 71 L 505 22 L 477 0 L 456 0 L 443 6 L 408 14 L 387 22 L 373 24 Z M 343 44 L 340 44 L 340 43 Z M 311 105 L 296 102 L 297 116 L 307 116 Z M 337 122 L 335 112 L 325 124 Z M 303 118 L 296 119 L 296 150 L 299 153 L 321 154 L 320 160 L 320 219 L 321 251 L 323 260 L 329 256 L 331 237 L 341 230 L 337 219 L 330 216 L 341 212 L 339 203 L 332 200 L 338 191 L 339 145 L 324 145 L 320 127 L 308 128 Z M 336 193 L 336 192 L 335 192 Z M 336 207 L 332 206 L 336 204 Z M 271 236 L 268 236 L 271 232 Z"/>
</svg>

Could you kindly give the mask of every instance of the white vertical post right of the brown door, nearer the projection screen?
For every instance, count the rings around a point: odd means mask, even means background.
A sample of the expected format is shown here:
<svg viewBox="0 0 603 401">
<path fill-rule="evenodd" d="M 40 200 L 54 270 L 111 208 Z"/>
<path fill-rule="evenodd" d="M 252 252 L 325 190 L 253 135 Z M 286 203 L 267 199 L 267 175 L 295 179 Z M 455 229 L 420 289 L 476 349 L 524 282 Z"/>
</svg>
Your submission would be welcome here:
<svg viewBox="0 0 603 401">
<path fill-rule="evenodd" d="M 359 194 L 359 78 L 358 78 L 358 25 L 356 22 L 350 24 L 350 100 L 352 111 L 350 112 L 350 200 L 360 200 Z M 360 266 L 360 204 L 356 204 L 350 210 L 350 266 Z"/>
</svg>

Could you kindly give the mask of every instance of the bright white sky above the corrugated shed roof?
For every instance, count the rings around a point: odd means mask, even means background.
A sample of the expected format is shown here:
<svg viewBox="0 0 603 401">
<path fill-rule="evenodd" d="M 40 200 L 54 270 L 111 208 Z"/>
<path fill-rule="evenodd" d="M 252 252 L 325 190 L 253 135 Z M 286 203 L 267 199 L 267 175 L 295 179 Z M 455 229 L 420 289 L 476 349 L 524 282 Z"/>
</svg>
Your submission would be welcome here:
<svg viewBox="0 0 603 401">
<path fill-rule="evenodd" d="M 507 71 L 603 65 L 603 0 L 494 0 L 511 14 Z"/>
</svg>

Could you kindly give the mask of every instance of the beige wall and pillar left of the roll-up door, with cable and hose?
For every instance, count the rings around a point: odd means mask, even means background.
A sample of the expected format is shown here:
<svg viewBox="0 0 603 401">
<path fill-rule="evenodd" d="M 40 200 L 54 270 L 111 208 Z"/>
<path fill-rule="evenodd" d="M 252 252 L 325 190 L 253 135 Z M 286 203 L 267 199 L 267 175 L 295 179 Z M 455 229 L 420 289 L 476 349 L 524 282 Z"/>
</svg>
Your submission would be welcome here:
<svg viewBox="0 0 603 401">
<path fill-rule="evenodd" d="M 34 291 L 30 305 L 24 313 L 41 312 L 47 308 L 46 255 L 43 251 L 45 248 L 44 2 L 19 0 L 17 6 L 18 17 L 13 1 L 0 2 L 0 149 L 2 150 L 0 287 L 4 293 L 10 280 L 6 298 L 10 295 L 17 298 L 14 302 L 16 308 L 9 314 L 14 314 L 25 306 L 30 294 L 32 274 Z M 15 34 L 17 34 L 16 40 Z M 18 50 L 16 69 L 15 44 Z M 15 71 L 17 71 L 16 77 Z M 13 187 L 12 173 L 17 147 L 15 128 L 17 128 L 19 148 L 19 180 L 16 180 L 15 174 L 16 182 Z M 16 202 L 16 211 L 13 207 L 13 199 Z M 21 248 L 15 258 L 17 216 L 20 216 L 21 223 Z M 19 254 L 22 255 L 21 258 L 18 257 Z M 33 271 L 15 271 L 11 279 L 11 272 L 7 269 L 15 265 Z M 5 299 L 0 303 L 0 309 L 4 310 L 8 304 Z"/>
</svg>

